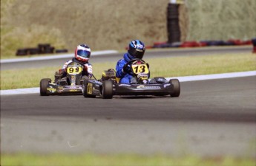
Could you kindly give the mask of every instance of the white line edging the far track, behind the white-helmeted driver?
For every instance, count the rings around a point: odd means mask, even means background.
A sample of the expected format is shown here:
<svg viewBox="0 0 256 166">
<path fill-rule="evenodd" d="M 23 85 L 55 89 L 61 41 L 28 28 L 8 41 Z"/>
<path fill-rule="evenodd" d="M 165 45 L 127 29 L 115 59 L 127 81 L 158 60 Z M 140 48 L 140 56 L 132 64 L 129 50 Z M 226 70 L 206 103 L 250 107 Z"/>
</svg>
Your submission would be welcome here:
<svg viewBox="0 0 256 166">
<path fill-rule="evenodd" d="M 105 50 L 105 51 L 97 51 L 91 52 L 92 56 L 96 55 L 108 55 L 118 53 L 116 50 Z M 73 58 L 72 54 L 59 54 L 59 55 L 49 55 L 42 57 L 33 57 L 33 58 L 17 58 L 17 59 L 4 59 L 0 60 L 1 63 L 13 63 L 13 62 L 25 62 L 25 61 L 33 61 L 33 60 L 50 60 L 50 59 L 59 59 L 59 58 Z"/>
</svg>

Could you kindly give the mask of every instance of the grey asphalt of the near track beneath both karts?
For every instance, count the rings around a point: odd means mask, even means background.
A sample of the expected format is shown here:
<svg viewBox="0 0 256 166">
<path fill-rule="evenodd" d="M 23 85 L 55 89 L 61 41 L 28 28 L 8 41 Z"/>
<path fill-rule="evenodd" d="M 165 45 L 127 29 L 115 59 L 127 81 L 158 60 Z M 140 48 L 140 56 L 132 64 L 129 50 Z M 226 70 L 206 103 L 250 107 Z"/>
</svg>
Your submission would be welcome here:
<svg viewBox="0 0 256 166">
<path fill-rule="evenodd" d="M 255 83 L 182 82 L 177 98 L 1 95 L 1 153 L 256 157 Z"/>
</svg>

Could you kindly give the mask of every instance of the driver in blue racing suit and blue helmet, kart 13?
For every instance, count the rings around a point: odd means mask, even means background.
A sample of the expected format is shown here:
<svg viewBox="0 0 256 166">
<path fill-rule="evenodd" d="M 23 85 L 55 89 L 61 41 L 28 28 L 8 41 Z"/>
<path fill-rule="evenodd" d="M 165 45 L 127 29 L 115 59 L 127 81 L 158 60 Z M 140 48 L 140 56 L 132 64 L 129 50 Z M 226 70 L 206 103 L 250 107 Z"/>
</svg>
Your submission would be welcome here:
<svg viewBox="0 0 256 166">
<path fill-rule="evenodd" d="M 116 77 L 119 77 L 119 83 L 131 83 L 131 66 L 128 66 L 128 62 L 135 58 L 142 59 L 145 53 L 145 44 L 142 41 L 134 40 L 128 46 L 128 52 L 123 55 L 123 59 L 120 59 L 116 63 Z"/>
</svg>

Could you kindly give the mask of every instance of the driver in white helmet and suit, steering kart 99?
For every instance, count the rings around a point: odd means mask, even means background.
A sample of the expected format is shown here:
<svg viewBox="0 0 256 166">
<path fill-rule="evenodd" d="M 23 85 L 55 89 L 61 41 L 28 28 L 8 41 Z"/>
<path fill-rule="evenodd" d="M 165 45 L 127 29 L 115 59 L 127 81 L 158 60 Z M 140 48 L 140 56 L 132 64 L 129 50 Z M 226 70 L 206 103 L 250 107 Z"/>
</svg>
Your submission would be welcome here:
<svg viewBox="0 0 256 166">
<path fill-rule="evenodd" d="M 82 72 L 82 75 L 83 75 L 82 80 L 84 80 L 86 76 L 88 78 L 91 78 L 93 75 L 93 66 L 91 65 L 91 63 L 88 62 L 90 56 L 91 56 L 91 49 L 89 46 L 87 46 L 86 44 L 80 44 L 79 46 L 76 46 L 75 57 L 72 58 L 71 60 L 68 60 L 63 65 L 62 69 L 59 69 L 59 72 L 56 72 L 55 83 L 57 83 L 57 81 L 60 78 L 63 79 L 67 75 L 67 66 L 71 62 L 84 64 L 85 67 L 84 67 L 84 71 Z"/>
</svg>

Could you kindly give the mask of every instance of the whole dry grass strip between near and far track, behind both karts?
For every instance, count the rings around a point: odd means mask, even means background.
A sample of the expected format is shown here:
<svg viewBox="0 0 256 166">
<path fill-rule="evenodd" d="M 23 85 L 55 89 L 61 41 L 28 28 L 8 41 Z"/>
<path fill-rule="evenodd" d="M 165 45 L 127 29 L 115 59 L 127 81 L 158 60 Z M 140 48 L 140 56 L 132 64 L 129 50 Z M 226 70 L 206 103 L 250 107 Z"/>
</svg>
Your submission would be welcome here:
<svg viewBox="0 0 256 166">
<path fill-rule="evenodd" d="M 256 70 L 256 56 L 252 53 L 191 56 L 176 58 L 145 59 L 150 64 L 151 77 L 178 77 L 188 75 L 208 75 L 226 72 Z M 1 90 L 39 87 L 42 78 L 53 80 L 59 66 L 38 69 L 1 71 Z M 115 68 L 116 62 L 94 63 L 93 74 L 99 79 L 102 71 Z"/>
</svg>

